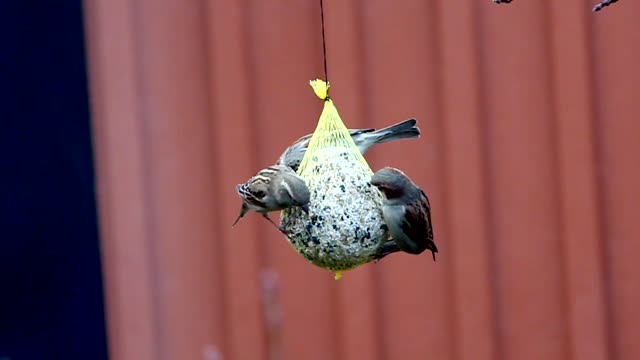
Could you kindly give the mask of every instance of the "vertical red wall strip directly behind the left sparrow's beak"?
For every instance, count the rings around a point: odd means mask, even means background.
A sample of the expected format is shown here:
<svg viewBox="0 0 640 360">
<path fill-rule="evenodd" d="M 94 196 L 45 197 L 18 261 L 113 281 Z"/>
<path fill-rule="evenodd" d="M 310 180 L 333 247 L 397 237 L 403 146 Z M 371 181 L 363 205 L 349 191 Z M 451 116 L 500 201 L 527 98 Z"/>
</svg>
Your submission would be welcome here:
<svg viewBox="0 0 640 360">
<path fill-rule="evenodd" d="M 260 360 L 267 359 L 260 291 L 260 274 L 267 259 L 260 235 L 271 229 L 259 228 L 264 224 L 251 215 L 231 228 L 241 204 L 233 189 L 253 175 L 260 164 L 255 154 L 257 132 L 249 101 L 253 92 L 247 71 L 250 49 L 246 42 L 245 11 L 243 3 L 235 0 L 208 2 L 209 96 L 215 151 L 212 160 L 217 187 L 215 217 L 219 224 L 216 238 L 210 241 L 219 245 L 222 263 L 219 275 L 224 278 L 222 296 L 228 344 L 224 358 Z"/>
</svg>

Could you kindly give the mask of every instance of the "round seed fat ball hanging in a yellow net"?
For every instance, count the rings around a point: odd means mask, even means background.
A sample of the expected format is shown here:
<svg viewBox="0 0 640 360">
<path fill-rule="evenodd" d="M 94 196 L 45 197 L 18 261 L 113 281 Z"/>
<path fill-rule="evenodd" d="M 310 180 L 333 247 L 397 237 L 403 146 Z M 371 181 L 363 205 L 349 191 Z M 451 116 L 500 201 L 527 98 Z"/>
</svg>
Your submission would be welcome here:
<svg viewBox="0 0 640 360">
<path fill-rule="evenodd" d="M 294 249 L 338 279 L 342 271 L 371 261 L 388 234 L 382 195 L 369 183 L 373 172 L 328 96 L 329 84 L 310 84 L 324 109 L 298 168 L 311 193 L 309 213 L 284 210 L 280 226 Z"/>
</svg>

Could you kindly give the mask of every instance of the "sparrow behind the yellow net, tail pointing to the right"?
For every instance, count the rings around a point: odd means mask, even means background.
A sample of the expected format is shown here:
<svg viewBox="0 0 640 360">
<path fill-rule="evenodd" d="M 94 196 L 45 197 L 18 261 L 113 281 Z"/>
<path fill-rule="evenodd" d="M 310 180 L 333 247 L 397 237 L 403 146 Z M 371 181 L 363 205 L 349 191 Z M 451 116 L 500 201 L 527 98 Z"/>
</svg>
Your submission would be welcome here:
<svg viewBox="0 0 640 360">
<path fill-rule="evenodd" d="M 416 122 L 416 119 L 407 119 L 378 130 L 373 128 L 349 129 L 349 133 L 360 150 L 360 153 L 364 155 L 364 153 L 375 144 L 397 139 L 420 137 L 420 129 L 415 127 Z M 301 137 L 286 148 L 276 164 L 286 165 L 294 171 L 298 171 L 298 166 L 300 166 L 302 158 L 307 151 L 307 146 L 309 146 L 311 135 L 313 134 L 307 134 Z"/>
</svg>

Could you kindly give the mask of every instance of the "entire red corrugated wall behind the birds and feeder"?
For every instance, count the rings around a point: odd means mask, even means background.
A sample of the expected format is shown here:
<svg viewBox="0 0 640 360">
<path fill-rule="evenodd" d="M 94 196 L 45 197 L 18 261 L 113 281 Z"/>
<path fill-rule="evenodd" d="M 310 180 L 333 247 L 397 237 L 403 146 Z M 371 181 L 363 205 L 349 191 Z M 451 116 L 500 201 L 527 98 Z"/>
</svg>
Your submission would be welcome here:
<svg viewBox="0 0 640 360">
<path fill-rule="evenodd" d="M 325 1 L 351 127 L 440 257 L 334 281 L 235 184 L 315 128 L 318 1 L 86 1 L 113 359 L 640 359 L 640 3 Z M 265 273 L 265 271 L 267 271 Z"/>
</svg>

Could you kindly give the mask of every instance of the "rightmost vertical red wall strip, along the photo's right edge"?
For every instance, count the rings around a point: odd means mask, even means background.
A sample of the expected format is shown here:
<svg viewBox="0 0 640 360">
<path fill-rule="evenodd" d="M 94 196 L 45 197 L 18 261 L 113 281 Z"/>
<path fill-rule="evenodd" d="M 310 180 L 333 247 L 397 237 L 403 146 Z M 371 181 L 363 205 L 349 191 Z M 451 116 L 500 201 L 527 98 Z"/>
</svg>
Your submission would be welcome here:
<svg viewBox="0 0 640 360">
<path fill-rule="evenodd" d="M 593 101 L 604 220 L 602 241 L 612 315 L 609 331 L 614 356 L 631 360 L 640 357 L 640 281 L 634 258 L 640 251 L 640 4 L 624 1 L 616 7 L 615 14 L 593 21 Z"/>
</svg>

